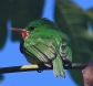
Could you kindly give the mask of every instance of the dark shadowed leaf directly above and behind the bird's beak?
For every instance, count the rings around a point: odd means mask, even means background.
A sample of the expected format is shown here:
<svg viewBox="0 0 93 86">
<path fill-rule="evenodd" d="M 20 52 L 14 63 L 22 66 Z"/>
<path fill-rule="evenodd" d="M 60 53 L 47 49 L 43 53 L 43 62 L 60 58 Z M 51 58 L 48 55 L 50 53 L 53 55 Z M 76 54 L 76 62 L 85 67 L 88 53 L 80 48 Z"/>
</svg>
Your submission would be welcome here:
<svg viewBox="0 0 93 86">
<path fill-rule="evenodd" d="M 13 0 L 11 20 L 13 28 L 24 28 L 32 20 L 41 18 L 44 0 Z M 12 40 L 18 41 L 21 35 L 12 32 Z"/>
</svg>

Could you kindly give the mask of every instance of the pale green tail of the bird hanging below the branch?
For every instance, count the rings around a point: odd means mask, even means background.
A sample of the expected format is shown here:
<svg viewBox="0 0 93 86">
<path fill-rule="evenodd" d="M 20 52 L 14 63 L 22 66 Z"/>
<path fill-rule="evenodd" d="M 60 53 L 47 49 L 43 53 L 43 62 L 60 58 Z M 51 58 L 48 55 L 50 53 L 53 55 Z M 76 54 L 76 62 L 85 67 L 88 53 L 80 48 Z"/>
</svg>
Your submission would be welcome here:
<svg viewBox="0 0 93 86">
<path fill-rule="evenodd" d="M 65 77 L 63 63 L 62 63 L 62 58 L 60 57 L 60 55 L 58 55 L 56 58 L 52 61 L 52 64 L 53 64 L 54 76 L 55 77 L 58 77 L 58 76 Z"/>
</svg>

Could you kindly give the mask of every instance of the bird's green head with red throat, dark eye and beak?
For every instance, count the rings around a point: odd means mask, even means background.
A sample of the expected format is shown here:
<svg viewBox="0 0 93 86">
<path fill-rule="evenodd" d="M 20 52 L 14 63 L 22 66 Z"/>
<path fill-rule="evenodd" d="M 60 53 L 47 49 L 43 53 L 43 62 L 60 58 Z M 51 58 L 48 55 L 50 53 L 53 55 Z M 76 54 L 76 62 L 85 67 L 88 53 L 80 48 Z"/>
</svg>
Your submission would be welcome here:
<svg viewBox="0 0 93 86">
<path fill-rule="evenodd" d="M 22 37 L 25 39 L 32 33 L 41 32 L 50 28 L 54 29 L 56 25 L 48 19 L 40 19 L 29 22 L 24 29 L 12 28 L 11 30 L 21 33 Z"/>
</svg>

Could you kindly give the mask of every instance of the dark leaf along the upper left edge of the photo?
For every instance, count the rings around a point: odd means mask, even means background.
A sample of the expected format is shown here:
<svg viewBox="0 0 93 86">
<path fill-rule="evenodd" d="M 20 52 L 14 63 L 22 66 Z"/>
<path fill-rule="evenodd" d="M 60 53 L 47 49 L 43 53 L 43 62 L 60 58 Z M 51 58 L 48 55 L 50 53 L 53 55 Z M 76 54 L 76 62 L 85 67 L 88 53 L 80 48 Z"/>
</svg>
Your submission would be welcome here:
<svg viewBox="0 0 93 86">
<path fill-rule="evenodd" d="M 0 0 L 0 50 L 4 46 L 7 40 L 7 21 L 9 18 L 10 1 Z"/>
</svg>

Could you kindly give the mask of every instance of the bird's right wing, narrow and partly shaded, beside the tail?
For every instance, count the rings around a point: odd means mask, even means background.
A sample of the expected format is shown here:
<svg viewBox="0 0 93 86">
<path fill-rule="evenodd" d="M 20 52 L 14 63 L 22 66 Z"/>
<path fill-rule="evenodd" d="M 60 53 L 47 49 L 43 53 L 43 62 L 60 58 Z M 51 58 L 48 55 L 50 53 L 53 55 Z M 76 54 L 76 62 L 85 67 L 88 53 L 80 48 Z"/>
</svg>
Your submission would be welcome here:
<svg viewBox="0 0 93 86">
<path fill-rule="evenodd" d="M 60 45 L 60 54 L 61 54 L 64 63 L 70 63 L 71 64 L 71 62 L 72 62 L 72 51 L 69 47 L 68 40 L 62 40 L 62 43 Z"/>
</svg>

